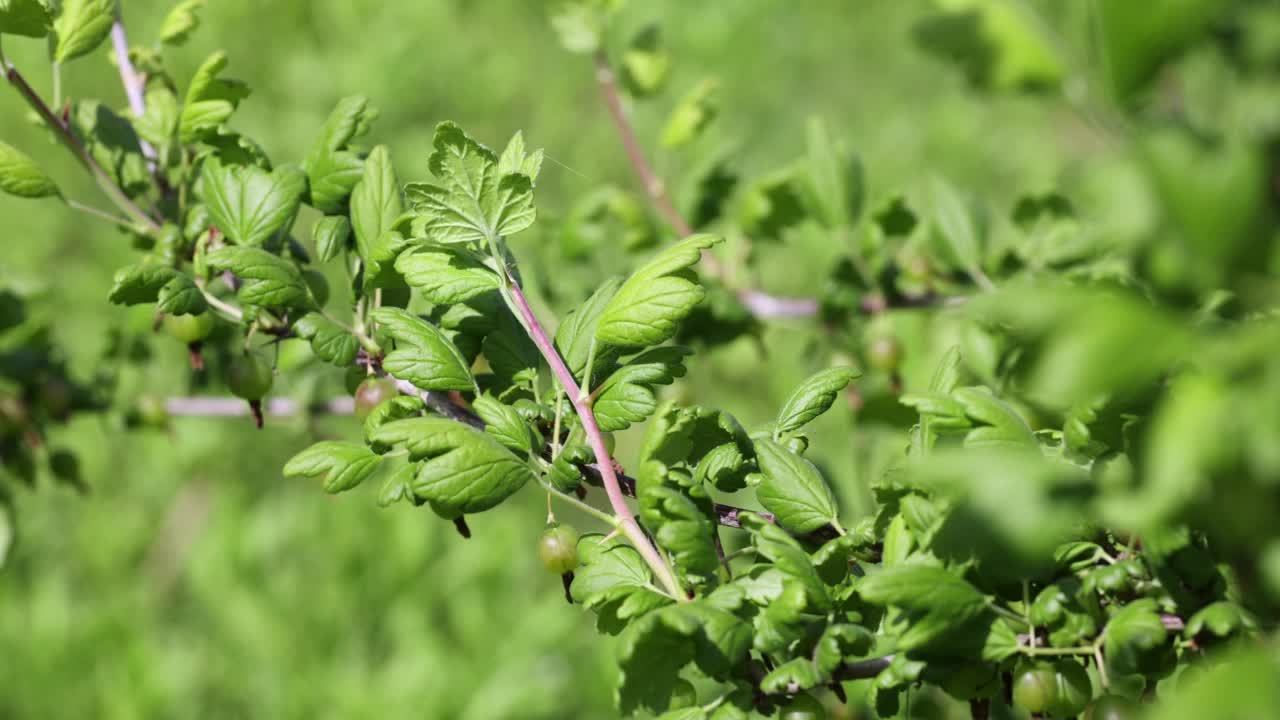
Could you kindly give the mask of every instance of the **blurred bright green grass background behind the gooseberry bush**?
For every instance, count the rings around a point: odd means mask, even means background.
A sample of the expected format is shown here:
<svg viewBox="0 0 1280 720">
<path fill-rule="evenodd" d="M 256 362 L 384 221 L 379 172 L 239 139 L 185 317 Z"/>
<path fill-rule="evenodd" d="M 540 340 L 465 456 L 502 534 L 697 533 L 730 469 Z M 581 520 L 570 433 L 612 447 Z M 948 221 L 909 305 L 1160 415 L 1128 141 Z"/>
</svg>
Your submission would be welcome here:
<svg viewBox="0 0 1280 720">
<path fill-rule="evenodd" d="M 123 3 L 134 44 L 155 37 L 168 5 Z M 664 95 L 632 109 L 659 174 L 682 197 L 680 178 L 717 152 L 748 176 L 769 170 L 803 152 L 805 120 L 820 117 L 861 155 L 870 206 L 929 172 L 982 187 L 1000 206 L 1070 177 L 1105 145 L 1079 117 L 977 95 L 922 53 L 913 26 L 932 9 L 925 0 L 632 3 L 620 33 L 660 20 L 675 61 Z M 184 47 L 166 50 L 174 77 L 184 83 L 210 51 L 228 50 L 227 74 L 253 90 L 234 124 L 276 161 L 301 160 L 352 94 L 381 110 L 371 140 L 392 147 L 402 179 L 426 176 L 439 120 L 492 145 L 522 129 L 550 159 L 539 178 L 541 229 L 516 247 L 531 255 L 554 240 L 575 199 L 605 183 L 636 187 L 590 60 L 559 47 L 541 3 L 219 0 L 202 19 Z M 5 53 L 47 92 L 42 42 L 6 37 Z M 67 67 L 65 92 L 124 106 L 105 54 Z M 714 138 L 659 151 L 667 110 L 705 77 L 722 87 Z M 6 88 L 0 137 L 68 195 L 96 199 Z M 38 291 L 83 377 L 108 329 L 150 318 L 105 301 L 113 270 L 133 258 L 128 241 L 45 202 L 0 197 L 0 274 Z M 767 288 L 812 295 L 842 249 L 799 233 L 760 251 Z M 604 258 L 584 272 L 612 269 Z M 804 323 L 772 324 L 762 342 L 695 360 L 672 392 L 758 424 L 829 361 L 810 336 Z M 175 343 L 152 352 L 122 392 L 207 392 Z M 340 392 L 337 379 L 332 387 Z M 813 443 L 850 519 L 868 510 L 867 438 L 876 437 L 852 439 L 851 423 L 847 411 L 828 415 Z M 19 539 L 0 573 L 0 717 L 614 716 L 611 641 L 564 605 L 534 553 L 544 497 L 530 489 L 474 518 L 475 537 L 463 541 L 425 511 L 380 510 L 376 488 L 333 498 L 280 475 L 316 437 L 356 432 L 353 420 L 321 418 L 261 432 L 247 419 L 175 419 L 169 432 L 125 433 L 92 416 L 55 430 L 51 442 L 79 454 L 90 492 L 46 483 L 15 498 Z M 621 447 L 626 462 L 634 439 Z"/>
</svg>

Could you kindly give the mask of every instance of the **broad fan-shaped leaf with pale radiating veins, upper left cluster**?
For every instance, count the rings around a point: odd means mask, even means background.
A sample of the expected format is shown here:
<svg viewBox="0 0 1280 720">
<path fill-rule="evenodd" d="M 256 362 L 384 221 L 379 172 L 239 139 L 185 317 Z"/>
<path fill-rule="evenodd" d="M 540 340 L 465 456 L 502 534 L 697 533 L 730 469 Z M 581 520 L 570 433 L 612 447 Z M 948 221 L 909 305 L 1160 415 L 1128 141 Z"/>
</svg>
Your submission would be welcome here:
<svg viewBox="0 0 1280 720">
<path fill-rule="evenodd" d="M 255 165 L 206 160 L 202 179 L 214 227 L 236 245 L 261 246 L 285 231 L 307 187 L 306 176 L 293 165 L 269 173 Z"/>
</svg>

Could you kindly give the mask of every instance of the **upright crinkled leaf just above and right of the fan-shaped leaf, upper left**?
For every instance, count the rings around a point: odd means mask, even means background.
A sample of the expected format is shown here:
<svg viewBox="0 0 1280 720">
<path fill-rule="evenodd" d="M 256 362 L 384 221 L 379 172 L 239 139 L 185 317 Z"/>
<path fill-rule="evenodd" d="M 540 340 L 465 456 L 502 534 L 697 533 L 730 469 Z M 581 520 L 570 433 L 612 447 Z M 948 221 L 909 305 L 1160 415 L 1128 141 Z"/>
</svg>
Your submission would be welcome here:
<svg viewBox="0 0 1280 720">
<path fill-rule="evenodd" d="M 365 174 L 365 161 L 351 142 L 366 132 L 378 110 L 362 96 L 343 97 L 329 114 L 305 163 L 311 205 L 321 213 L 342 213 L 351 191 Z"/>
</svg>

